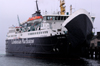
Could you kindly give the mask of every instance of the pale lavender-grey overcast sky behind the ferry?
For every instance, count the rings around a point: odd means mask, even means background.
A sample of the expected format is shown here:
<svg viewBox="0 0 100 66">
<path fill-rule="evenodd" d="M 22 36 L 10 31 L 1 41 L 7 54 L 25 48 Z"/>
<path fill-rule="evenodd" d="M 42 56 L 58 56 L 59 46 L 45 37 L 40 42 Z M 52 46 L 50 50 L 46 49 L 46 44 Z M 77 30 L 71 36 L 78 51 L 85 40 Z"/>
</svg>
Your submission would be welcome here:
<svg viewBox="0 0 100 66">
<path fill-rule="evenodd" d="M 93 26 L 95 32 L 100 31 L 100 0 L 65 0 L 66 12 L 85 9 L 95 16 Z M 42 15 L 60 11 L 60 0 L 38 0 L 38 6 Z M 5 49 L 5 40 L 8 28 L 12 25 L 18 26 L 17 15 L 20 22 L 26 21 L 36 11 L 35 0 L 0 0 L 0 51 Z M 96 33 L 95 33 L 96 34 Z"/>
</svg>

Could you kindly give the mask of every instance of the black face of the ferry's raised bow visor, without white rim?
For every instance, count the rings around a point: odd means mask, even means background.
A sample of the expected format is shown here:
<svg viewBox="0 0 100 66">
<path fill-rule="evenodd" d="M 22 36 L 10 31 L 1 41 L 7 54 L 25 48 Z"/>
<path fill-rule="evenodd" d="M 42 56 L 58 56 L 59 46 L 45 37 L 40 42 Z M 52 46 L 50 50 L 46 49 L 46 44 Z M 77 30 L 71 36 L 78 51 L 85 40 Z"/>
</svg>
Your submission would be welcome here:
<svg viewBox="0 0 100 66">
<path fill-rule="evenodd" d="M 68 29 L 68 39 L 73 48 L 77 48 L 84 41 L 89 42 L 92 38 L 92 22 L 85 14 L 78 15 L 65 27 Z"/>
</svg>

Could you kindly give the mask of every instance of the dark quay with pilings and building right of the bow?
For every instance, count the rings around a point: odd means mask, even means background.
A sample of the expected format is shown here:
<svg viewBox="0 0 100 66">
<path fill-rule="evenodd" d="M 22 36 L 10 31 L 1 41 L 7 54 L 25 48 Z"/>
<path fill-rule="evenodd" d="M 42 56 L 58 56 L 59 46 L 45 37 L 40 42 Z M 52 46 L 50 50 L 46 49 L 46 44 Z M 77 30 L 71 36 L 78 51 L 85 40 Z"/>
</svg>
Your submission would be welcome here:
<svg viewBox="0 0 100 66">
<path fill-rule="evenodd" d="M 94 35 L 89 47 L 86 47 L 84 52 L 85 54 L 82 54 L 82 57 L 100 60 L 100 32 Z"/>
</svg>

